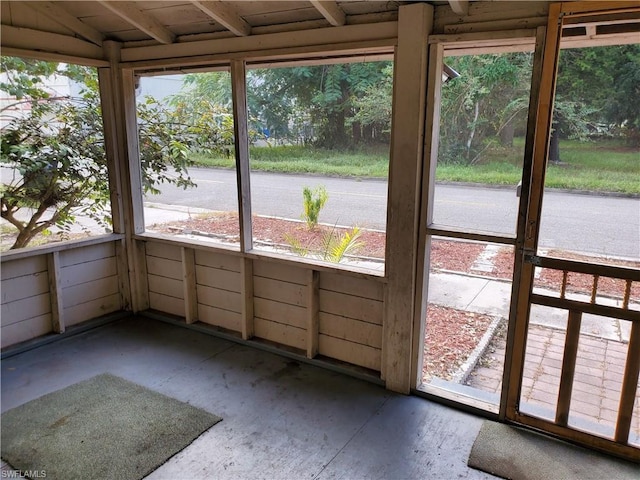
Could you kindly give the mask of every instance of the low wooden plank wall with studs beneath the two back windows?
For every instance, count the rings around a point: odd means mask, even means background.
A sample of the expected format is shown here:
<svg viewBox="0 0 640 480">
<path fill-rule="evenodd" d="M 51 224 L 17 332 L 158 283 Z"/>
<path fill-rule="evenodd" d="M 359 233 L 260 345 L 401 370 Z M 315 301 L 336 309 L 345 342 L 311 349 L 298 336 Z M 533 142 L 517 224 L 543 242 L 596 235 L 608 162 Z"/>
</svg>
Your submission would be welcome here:
<svg viewBox="0 0 640 480">
<path fill-rule="evenodd" d="M 384 278 L 170 240 L 138 242 L 145 245 L 152 310 L 308 357 L 381 371 Z M 192 280 L 190 255 L 181 250 L 194 253 Z M 190 281 L 195 296 L 184 294 Z M 187 319 L 188 311 L 195 318 Z"/>
</svg>

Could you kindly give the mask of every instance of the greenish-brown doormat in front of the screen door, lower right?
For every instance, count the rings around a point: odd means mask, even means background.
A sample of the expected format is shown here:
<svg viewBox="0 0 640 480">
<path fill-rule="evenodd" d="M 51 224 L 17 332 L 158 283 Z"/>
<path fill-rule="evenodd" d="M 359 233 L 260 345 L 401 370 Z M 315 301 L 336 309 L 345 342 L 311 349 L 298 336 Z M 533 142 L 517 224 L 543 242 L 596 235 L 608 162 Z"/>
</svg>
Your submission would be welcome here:
<svg viewBox="0 0 640 480">
<path fill-rule="evenodd" d="M 483 422 L 467 465 L 510 480 L 639 478 L 631 462 L 490 421 Z"/>
</svg>

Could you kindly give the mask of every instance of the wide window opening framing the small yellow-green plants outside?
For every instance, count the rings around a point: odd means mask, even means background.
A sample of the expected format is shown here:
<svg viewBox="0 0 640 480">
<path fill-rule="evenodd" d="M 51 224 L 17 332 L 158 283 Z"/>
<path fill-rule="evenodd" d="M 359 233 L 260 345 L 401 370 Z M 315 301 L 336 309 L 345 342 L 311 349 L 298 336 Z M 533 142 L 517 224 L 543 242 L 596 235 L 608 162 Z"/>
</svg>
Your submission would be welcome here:
<svg viewBox="0 0 640 480">
<path fill-rule="evenodd" d="M 384 273 L 393 63 L 247 71 L 254 249 Z"/>
</svg>

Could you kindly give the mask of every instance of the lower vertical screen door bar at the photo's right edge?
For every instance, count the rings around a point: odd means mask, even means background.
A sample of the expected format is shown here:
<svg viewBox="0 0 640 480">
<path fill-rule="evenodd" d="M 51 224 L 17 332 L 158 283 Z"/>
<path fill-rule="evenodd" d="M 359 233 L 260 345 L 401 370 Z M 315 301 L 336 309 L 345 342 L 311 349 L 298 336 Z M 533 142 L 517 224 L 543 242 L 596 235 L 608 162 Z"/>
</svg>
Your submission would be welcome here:
<svg viewBox="0 0 640 480">
<path fill-rule="evenodd" d="M 638 389 L 638 374 L 640 374 L 640 322 L 636 321 L 631 324 L 627 362 L 622 378 L 622 392 L 620 393 L 615 433 L 615 441 L 618 443 L 627 444 L 629 442 L 633 406 L 636 402 Z"/>
</svg>

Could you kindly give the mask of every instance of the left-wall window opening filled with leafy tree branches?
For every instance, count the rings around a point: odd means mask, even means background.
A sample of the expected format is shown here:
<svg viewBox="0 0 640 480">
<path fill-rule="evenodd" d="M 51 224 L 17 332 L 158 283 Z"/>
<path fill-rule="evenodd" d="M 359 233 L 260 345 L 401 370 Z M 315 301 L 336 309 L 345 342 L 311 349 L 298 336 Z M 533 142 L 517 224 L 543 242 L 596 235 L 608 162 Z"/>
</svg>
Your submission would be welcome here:
<svg viewBox="0 0 640 480">
<path fill-rule="evenodd" d="M 111 231 L 95 68 L 2 57 L 2 250 Z"/>
</svg>

